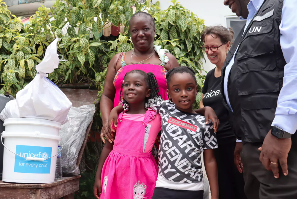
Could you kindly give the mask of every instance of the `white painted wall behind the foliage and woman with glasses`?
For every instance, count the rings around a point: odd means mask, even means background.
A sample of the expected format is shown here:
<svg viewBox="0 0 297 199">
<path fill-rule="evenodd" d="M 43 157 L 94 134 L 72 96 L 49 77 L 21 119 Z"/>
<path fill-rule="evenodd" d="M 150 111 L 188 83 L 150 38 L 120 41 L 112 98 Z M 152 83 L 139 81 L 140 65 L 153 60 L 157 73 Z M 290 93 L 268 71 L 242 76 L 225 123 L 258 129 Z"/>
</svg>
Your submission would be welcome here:
<svg viewBox="0 0 297 199">
<path fill-rule="evenodd" d="M 155 3 L 157 0 L 152 0 Z M 159 0 L 160 8 L 167 9 L 171 2 L 169 0 Z M 231 12 L 228 6 L 225 6 L 223 0 L 178 0 L 186 9 L 189 9 L 201 19 L 205 20 L 206 26 L 223 25 L 226 27 L 226 17 L 236 16 Z M 205 56 L 206 63 L 203 65 L 207 72 L 215 67 Z"/>
</svg>

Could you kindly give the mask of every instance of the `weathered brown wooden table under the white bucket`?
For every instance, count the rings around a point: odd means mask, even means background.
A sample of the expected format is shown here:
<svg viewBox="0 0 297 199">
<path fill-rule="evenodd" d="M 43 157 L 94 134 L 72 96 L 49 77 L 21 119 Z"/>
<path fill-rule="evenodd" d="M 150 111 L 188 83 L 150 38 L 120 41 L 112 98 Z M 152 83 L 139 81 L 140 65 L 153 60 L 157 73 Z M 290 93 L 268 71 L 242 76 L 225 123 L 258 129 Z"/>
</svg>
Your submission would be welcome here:
<svg viewBox="0 0 297 199">
<path fill-rule="evenodd" d="M 62 177 L 54 183 L 14 184 L 0 181 L 1 199 L 73 199 L 78 191 L 79 176 Z"/>
</svg>

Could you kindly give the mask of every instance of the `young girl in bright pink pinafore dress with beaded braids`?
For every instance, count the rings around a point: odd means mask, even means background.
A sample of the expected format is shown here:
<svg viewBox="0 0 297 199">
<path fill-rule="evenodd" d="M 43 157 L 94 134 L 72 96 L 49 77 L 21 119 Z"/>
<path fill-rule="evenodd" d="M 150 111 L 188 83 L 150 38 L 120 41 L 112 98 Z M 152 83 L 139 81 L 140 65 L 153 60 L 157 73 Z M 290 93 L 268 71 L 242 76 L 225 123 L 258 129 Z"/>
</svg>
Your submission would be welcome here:
<svg viewBox="0 0 297 199">
<path fill-rule="evenodd" d="M 156 77 L 132 70 L 124 77 L 121 93 L 124 111 L 117 127 L 113 126 L 114 144 L 106 142 L 102 150 L 94 195 L 97 199 L 151 199 L 158 175 L 151 149 L 161 130 L 161 118 L 145 104 L 160 96 Z"/>
</svg>

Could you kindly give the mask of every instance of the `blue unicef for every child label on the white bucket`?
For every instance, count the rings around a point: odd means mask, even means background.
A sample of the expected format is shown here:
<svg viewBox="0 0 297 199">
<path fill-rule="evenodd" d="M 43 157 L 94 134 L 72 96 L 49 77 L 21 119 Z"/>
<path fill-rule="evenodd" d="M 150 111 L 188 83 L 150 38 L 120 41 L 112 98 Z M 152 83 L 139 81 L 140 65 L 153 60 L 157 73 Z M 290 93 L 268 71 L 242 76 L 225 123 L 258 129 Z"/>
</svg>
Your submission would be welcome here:
<svg viewBox="0 0 297 199">
<path fill-rule="evenodd" d="M 51 147 L 17 145 L 16 154 L 25 158 L 48 158 L 52 154 Z M 26 160 L 15 155 L 15 169 L 17 173 L 49 174 L 51 158 L 45 161 Z"/>
</svg>

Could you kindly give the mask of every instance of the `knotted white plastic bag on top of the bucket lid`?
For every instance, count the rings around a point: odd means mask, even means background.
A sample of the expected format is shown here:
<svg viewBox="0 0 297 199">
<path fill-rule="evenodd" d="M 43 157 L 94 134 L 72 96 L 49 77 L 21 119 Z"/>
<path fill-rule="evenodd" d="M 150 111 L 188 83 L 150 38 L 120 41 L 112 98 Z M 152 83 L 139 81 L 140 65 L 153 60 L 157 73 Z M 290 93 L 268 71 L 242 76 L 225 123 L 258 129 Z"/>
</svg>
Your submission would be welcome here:
<svg viewBox="0 0 297 199">
<path fill-rule="evenodd" d="M 51 73 L 59 65 L 55 39 L 46 49 L 45 57 L 36 66 L 37 75 L 16 95 L 20 117 L 48 119 L 64 124 L 72 103 L 65 94 L 50 80 Z"/>
</svg>

